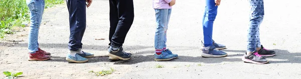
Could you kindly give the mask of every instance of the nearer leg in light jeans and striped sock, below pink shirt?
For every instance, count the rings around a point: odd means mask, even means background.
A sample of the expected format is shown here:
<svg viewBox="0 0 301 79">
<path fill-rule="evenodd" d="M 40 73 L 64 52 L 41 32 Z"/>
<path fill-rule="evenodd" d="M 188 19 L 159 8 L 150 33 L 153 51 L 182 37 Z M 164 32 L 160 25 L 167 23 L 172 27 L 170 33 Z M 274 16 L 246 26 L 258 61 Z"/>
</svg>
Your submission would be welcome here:
<svg viewBox="0 0 301 79">
<path fill-rule="evenodd" d="M 155 49 L 160 55 L 164 48 L 165 30 L 167 27 L 168 9 L 155 9 L 156 12 L 156 34 L 155 34 Z"/>
</svg>

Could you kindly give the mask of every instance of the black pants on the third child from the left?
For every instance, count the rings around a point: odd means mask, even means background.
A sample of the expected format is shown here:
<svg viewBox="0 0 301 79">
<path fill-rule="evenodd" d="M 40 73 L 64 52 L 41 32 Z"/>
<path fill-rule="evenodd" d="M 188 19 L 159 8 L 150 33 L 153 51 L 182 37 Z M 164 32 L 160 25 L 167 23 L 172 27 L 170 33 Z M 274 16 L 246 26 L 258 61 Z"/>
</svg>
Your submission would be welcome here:
<svg viewBox="0 0 301 79">
<path fill-rule="evenodd" d="M 134 20 L 133 0 L 109 0 L 110 2 L 110 34 L 112 47 L 120 47 Z"/>
</svg>

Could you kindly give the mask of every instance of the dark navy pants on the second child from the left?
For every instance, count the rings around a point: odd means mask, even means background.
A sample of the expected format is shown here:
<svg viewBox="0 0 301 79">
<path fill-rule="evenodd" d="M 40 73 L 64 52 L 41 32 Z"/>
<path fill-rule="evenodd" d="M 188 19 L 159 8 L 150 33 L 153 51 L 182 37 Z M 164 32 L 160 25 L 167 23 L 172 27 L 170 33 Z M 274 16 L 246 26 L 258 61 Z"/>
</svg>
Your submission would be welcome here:
<svg viewBox="0 0 301 79">
<path fill-rule="evenodd" d="M 68 48 L 77 51 L 82 48 L 82 38 L 86 29 L 86 0 L 66 0 L 69 11 L 70 37 Z"/>
</svg>

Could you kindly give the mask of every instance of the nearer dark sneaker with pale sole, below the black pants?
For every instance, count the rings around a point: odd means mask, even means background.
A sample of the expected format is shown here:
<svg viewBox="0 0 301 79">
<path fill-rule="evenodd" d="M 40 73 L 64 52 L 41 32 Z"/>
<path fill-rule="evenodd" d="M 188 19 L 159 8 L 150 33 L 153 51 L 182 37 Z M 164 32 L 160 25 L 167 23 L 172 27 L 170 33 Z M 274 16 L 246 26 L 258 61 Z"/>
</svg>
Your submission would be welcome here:
<svg viewBox="0 0 301 79">
<path fill-rule="evenodd" d="M 131 54 L 124 52 L 122 46 L 119 49 L 117 49 L 116 51 L 113 50 L 112 47 L 110 46 L 110 48 L 108 50 L 108 56 L 109 56 L 109 59 L 111 57 L 113 59 L 118 58 L 120 60 L 129 60 L 131 57 Z"/>
</svg>

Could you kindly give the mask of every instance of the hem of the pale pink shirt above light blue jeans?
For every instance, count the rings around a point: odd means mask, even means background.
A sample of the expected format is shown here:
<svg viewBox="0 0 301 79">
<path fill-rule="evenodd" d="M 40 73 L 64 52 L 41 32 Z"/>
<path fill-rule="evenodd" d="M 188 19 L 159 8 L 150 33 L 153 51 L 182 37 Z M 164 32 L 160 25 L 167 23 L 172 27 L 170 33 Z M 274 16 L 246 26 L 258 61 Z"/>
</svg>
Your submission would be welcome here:
<svg viewBox="0 0 301 79">
<path fill-rule="evenodd" d="M 172 0 L 153 0 L 153 8 L 155 9 L 170 9 L 172 6 L 169 3 Z"/>
</svg>

